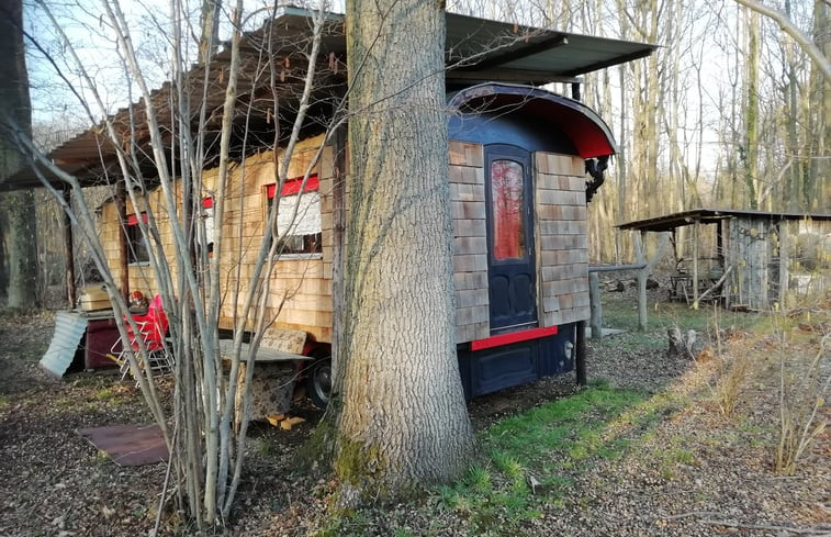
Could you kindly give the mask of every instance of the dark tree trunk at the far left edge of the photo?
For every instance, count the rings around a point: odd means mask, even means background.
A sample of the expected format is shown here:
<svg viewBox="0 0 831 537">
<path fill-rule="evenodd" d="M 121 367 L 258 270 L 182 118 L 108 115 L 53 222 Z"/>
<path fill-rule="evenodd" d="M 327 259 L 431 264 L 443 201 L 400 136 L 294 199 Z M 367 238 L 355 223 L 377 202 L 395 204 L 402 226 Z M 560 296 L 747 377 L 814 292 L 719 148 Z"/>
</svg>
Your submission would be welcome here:
<svg viewBox="0 0 831 537">
<path fill-rule="evenodd" d="M 29 79 L 23 48 L 23 8 L 21 0 L 12 0 L 0 9 L 0 125 L 20 128 L 31 135 L 32 120 L 29 103 Z M 10 125 L 11 123 L 11 125 Z M 4 131 L 4 132 L 3 132 Z M 0 181 L 23 164 L 23 155 L 9 135 L 0 128 Z M 37 249 L 35 247 L 35 205 L 31 190 L 3 194 L 0 203 L 0 240 L 2 270 L 0 278 L 8 282 L 8 305 L 36 305 Z"/>
</svg>

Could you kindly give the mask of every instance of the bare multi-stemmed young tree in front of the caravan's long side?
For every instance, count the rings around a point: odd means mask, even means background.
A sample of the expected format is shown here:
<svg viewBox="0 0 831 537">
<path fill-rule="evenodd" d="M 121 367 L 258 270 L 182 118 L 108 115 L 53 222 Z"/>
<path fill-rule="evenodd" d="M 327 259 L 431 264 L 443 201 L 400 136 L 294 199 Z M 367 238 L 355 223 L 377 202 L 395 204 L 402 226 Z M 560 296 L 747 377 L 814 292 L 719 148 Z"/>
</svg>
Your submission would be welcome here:
<svg viewBox="0 0 831 537">
<path fill-rule="evenodd" d="M 154 369 L 145 367 L 150 363 L 146 343 L 138 338 L 138 348 L 125 354 L 170 451 L 166 480 L 169 490 L 162 493 L 161 501 L 176 499 L 178 507 L 188 513 L 198 528 L 221 524 L 229 515 L 242 476 L 247 430 L 245 402 L 249 398 L 247 389 L 254 370 L 252 359 L 265 329 L 280 309 L 279 304 L 274 307 L 269 302 L 269 286 L 274 259 L 284 243 L 283 234 L 288 232 L 276 225 L 280 204 L 273 203 L 268 216 L 270 225 L 265 227 L 266 232 L 251 255 L 248 254 L 251 250 L 248 243 L 243 244 L 239 237 L 224 236 L 226 228 L 234 233 L 244 225 L 240 219 L 236 221 L 237 227 L 215 226 L 212 246 L 216 258 L 222 256 L 223 261 L 212 261 L 204 242 L 205 222 L 199 214 L 205 195 L 210 195 L 215 221 L 228 221 L 225 215 L 232 208 L 225 205 L 225 200 L 234 199 L 229 190 L 232 176 L 237 181 L 237 189 L 245 184 L 245 169 L 234 164 L 236 157 L 233 155 L 240 152 L 240 145 L 245 147 L 249 136 L 248 131 L 240 136 L 235 128 L 246 125 L 252 114 L 259 113 L 257 107 L 270 110 L 270 118 L 276 119 L 274 111 L 279 110 L 281 100 L 285 100 L 296 103 L 293 104 L 296 112 L 292 115 L 293 123 L 283 125 L 282 131 L 274 128 L 270 169 L 278 186 L 277 192 L 280 192 L 279 187 L 287 179 L 292 152 L 300 137 L 300 127 L 306 120 L 325 10 L 313 19 L 312 38 L 294 44 L 300 51 L 299 57 L 306 59 L 302 67 L 303 77 L 292 86 L 297 88 L 297 93 L 274 94 L 273 100 L 263 101 L 247 90 L 245 102 L 239 102 L 240 79 L 246 88 L 273 82 L 270 78 L 274 54 L 271 47 L 281 42 L 277 34 L 280 29 L 266 25 L 257 34 L 259 37 L 248 38 L 246 49 L 242 49 L 245 24 L 242 0 L 231 8 L 227 23 L 232 40 L 222 53 L 212 52 L 216 43 L 218 2 L 205 3 L 203 32 L 194 38 L 191 38 L 194 25 L 184 3 L 171 0 L 167 18 L 153 14 L 159 29 L 167 29 L 166 55 L 170 58 L 168 67 L 172 74 L 171 83 L 157 91 L 151 90 L 151 77 L 136 49 L 135 26 L 117 0 L 102 2 L 101 26 L 116 44 L 131 100 L 139 99 L 138 104 L 106 115 L 108 103 L 102 89 L 105 81 L 93 76 L 78 53 L 77 44 L 64 33 L 49 5 L 45 2 L 37 5 L 52 22 L 53 31 L 64 46 L 61 61 L 48 58 L 56 69 L 55 76 L 63 79 L 67 89 L 78 98 L 90 123 L 104 118 L 89 132 L 96 135 L 102 154 L 110 159 L 100 180 L 112 188 L 115 205 L 122 214 L 125 208 L 142 214 L 143 217 L 136 220 L 136 227 L 147 245 L 148 267 L 143 272 L 150 275 L 146 277 L 153 279 L 153 288 L 158 290 L 170 321 L 170 347 L 176 362 L 176 389 L 170 404 L 157 389 Z M 30 38 L 35 45 L 40 44 L 35 36 L 30 35 Z M 40 49 L 46 52 L 43 46 Z M 224 54 L 222 60 L 217 59 L 220 54 Z M 194 55 L 199 63 L 191 67 Z M 80 82 L 76 85 L 61 65 L 70 68 Z M 128 281 L 128 275 L 117 270 L 108 259 L 109 246 L 98 233 L 94 206 L 90 206 L 86 199 L 82 181 L 40 153 L 22 122 L 10 122 L 4 126 L 7 136 L 12 136 L 25 153 L 33 155 L 37 166 L 31 169 L 38 174 L 44 187 L 72 220 L 76 232 L 90 245 L 114 314 L 116 318 L 125 320 L 120 325 L 122 340 L 130 342 L 127 331 L 135 334 L 138 327 L 133 317 L 126 315 L 124 282 Z M 278 145 L 283 147 L 279 152 Z M 316 165 L 322 149 L 323 146 L 308 161 L 306 176 Z M 209 178 L 205 170 L 211 167 L 214 171 Z M 48 174 L 42 171 L 44 169 Z M 77 201 L 75 205 L 67 202 L 64 189 L 71 190 Z M 126 226 L 123 217 L 120 219 Z M 120 231 L 117 242 L 122 246 L 125 245 L 123 236 L 124 232 Z M 243 256 L 246 256 L 246 262 L 250 261 L 250 273 L 245 282 L 237 281 L 234 300 L 229 301 L 225 288 L 228 278 L 226 261 L 238 266 Z M 234 339 L 233 350 L 221 353 L 218 331 L 223 307 L 233 310 Z M 251 340 L 245 347 L 248 351 L 244 353 L 243 339 L 248 335 Z M 244 363 L 248 366 L 247 378 L 246 382 L 240 382 Z M 244 404 L 235 414 L 235 404 L 240 398 Z M 242 415 L 238 414 L 240 411 Z M 235 422 L 240 425 L 238 430 L 234 427 Z"/>
</svg>

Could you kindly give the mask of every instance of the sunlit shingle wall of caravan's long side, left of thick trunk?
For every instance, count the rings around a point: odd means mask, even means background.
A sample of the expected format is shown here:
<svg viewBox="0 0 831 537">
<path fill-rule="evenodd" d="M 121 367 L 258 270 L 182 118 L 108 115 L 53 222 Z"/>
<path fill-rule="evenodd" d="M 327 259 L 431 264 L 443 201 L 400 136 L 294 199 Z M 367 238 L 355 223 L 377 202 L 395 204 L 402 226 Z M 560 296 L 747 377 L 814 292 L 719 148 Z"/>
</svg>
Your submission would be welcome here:
<svg viewBox="0 0 831 537">
<path fill-rule="evenodd" d="M 296 153 L 289 167 L 288 177 L 300 177 L 311 161 L 314 152 L 322 142 L 322 137 L 310 138 L 299 144 Z M 279 156 L 278 156 L 279 158 Z M 256 258 L 260 248 L 261 237 L 267 221 L 266 186 L 276 182 L 273 152 L 266 152 L 248 157 L 244 165 L 236 165 L 231 171 L 231 180 L 225 197 L 225 221 L 223 222 L 222 251 L 214 253 L 214 260 L 218 258 L 221 265 L 221 280 L 223 287 L 223 303 L 221 306 L 221 326 L 231 328 L 234 318 L 233 297 L 238 295 L 239 302 L 245 300 Z M 322 203 L 326 203 L 325 192 L 332 189 L 330 175 L 324 177 L 323 170 L 332 166 L 317 167 L 321 180 Z M 205 170 L 204 195 L 211 195 L 216 180 L 216 170 Z M 177 186 L 178 188 L 178 186 Z M 161 193 L 155 190 L 147 195 L 148 203 L 156 213 L 161 243 L 168 256 L 173 255 L 173 240 L 170 216 L 164 211 Z M 181 193 L 178 193 L 179 203 Z M 127 214 L 135 211 L 127 204 Z M 330 227 L 330 217 L 328 220 Z M 218 223 L 217 223 L 218 225 Z M 324 221 L 324 227 L 326 221 Z M 100 232 L 104 243 L 104 251 L 110 269 L 119 277 L 119 233 L 114 203 L 102 208 Z M 328 243 L 327 243 L 328 239 Z M 324 279 L 325 264 L 329 266 L 330 275 L 332 234 L 324 232 L 323 256 L 297 256 L 296 258 L 280 258 L 274 266 L 270 279 L 267 307 L 270 315 L 279 315 L 274 325 L 278 327 L 302 329 L 318 340 L 329 340 L 332 334 L 332 280 Z M 327 256 L 328 254 L 328 256 Z M 173 265 L 171 258 L 171 266 Z M 149 266 L 131 266 L 131 289 L 141 290 L 145 294 L 156 294 L 159 289 Z M 238 290 L 238 291 L 237 291 Z"/>
</svg>

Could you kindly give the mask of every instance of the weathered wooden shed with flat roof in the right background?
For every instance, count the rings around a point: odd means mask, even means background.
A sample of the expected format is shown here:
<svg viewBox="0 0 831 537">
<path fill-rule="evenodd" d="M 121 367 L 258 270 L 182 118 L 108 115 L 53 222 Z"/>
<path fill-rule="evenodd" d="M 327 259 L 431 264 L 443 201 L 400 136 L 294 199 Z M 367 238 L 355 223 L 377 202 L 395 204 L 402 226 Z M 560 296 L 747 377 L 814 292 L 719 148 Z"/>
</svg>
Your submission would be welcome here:
<svg viewBox="0 0 831 537">
<path fill-rule="evenodd" d="M 701 208 L 618 227 L 672 233 L 670 282 L 678 300 L 705 295 L 727 307 L 768 310 L 831 290 L 828 213 Z"/>
</svg>

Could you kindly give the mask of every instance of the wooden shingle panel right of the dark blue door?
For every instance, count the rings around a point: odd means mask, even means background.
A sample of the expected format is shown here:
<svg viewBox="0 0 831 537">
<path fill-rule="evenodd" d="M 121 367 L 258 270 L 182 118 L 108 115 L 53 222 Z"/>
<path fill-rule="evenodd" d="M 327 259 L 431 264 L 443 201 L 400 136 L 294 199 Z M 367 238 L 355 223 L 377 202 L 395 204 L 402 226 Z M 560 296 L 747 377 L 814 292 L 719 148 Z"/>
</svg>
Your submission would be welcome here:
<svg viewBox="0 0 831 537">
<path fill-rule="evenodd" d="M 589 316 L 585 171 L 581 157 L 535 154 L 541 326 Z"/>
</svg>

